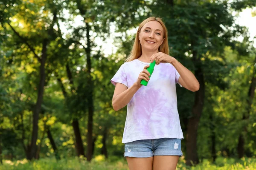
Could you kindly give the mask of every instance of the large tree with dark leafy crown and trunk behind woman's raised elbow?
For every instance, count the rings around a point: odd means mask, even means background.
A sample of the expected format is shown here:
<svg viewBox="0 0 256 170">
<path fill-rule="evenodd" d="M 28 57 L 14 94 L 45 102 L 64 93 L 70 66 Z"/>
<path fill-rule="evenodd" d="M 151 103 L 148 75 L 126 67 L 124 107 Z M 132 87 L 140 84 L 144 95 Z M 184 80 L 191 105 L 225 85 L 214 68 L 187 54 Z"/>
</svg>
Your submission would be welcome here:
<svg viewBox="0 0 256 170">
<path fill-rule="evenodd" d="M 244 28 L 234 23 L 234 17 L 228 11 L 231 5 L 226 1 L 155 1 L 155 4 L 151 9 L 155 11 L 153 14 L 162 16 L 166 21 L 172 55 L 193 69 L 200 83 L 199 91 L 195 92 L 185 137 L 186 164 L 191 165 L 198 163 L 197 130 L 204 108 L 205 83 L 220 88 L 225 84 L 220 74 L 213 74 L 215 65 L 220 63 L 209 58 L 209 54 L 221 54 L 226 45 L 234 47 L 233 37 L 243 34 Z M 160 10 L 154 10 L 156 8 Z M 230 27 L 234 29 L 230 30 Z"/>
</svg>

